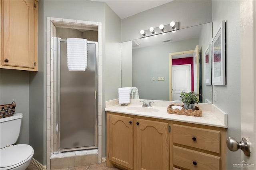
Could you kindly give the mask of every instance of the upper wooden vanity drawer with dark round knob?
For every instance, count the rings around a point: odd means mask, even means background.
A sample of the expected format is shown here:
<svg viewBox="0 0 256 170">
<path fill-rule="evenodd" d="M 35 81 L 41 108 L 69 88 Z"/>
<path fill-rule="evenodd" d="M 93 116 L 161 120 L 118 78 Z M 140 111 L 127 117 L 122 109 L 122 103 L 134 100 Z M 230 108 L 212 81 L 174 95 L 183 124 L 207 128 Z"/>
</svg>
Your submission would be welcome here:
<svg viewBox="0 0 256 170">
<path fill-rule="evenodd" d="M 173 142 L 220 153 L 220 131 L 172 125 Z"/>
</svg>

